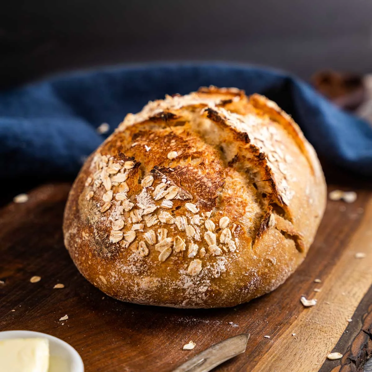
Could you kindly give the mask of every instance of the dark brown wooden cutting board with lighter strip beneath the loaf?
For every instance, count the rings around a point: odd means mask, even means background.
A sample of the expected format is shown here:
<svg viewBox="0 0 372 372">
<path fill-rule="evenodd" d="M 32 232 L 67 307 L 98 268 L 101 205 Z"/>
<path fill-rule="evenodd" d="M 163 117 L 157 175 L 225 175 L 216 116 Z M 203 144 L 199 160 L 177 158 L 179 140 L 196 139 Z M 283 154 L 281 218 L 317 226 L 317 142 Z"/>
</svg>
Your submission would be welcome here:
<svg viewBox="0 0 372 372">
<path fill-rule="evenodd" d="M 172 371 L 247 332 L 246 352 L 216 370 L 361 371 L 371 355 L 371 190 L 357 190 L 352 204 L 328 202 L 307 259 L 273 293 L 235 308 L 181 310 L 116 301 L 78 273 L 61 230 L 69 188 L 45 185 L 28 202 L 0 210 L 0 330 L 60 337 L 80 353 L 87 372 Z M 35 275 L 41 280 L 31 283 Z M 57 283 L 65 288 L 53 289 Z M 317 305 L 304 308 L 301 295 Z M 190 340 L 195 349 L 182 350 Z M 327 360 L 332 351 L 343 358 Z"/>
</svg>

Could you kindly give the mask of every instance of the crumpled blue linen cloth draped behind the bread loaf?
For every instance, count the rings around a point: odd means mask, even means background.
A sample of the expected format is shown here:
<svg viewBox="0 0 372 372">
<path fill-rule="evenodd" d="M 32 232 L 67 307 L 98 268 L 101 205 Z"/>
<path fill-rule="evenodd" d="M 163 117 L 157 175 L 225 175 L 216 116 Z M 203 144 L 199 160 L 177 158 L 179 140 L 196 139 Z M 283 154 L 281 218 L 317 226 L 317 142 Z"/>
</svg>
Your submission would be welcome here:
<svg viewBox="0 0 372 372">
<path fill-rule="evenodd" d="M 150 64 L 71 74 L 0 92 L 0 177 L 74 176 L 104 140 L 96 131 L 100 124 L 107 122 L 112 132 L 126 113 L 140 111 L 148 100 L 210 84 L 264 94 L 293 116 L 321 157 L 372 175 L 369 124 L 294 76 L 229 64 Z"/>
</svg>

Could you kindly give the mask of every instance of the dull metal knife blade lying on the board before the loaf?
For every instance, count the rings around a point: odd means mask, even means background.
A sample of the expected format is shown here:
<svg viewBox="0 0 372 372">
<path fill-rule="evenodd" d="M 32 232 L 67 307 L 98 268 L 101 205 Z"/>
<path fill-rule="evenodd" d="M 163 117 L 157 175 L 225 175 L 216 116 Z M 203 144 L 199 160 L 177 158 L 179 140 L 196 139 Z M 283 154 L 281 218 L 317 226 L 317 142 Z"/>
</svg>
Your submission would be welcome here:
<svg viewBox="0 0 372 372">
<path fill-rule="evenodd" d="M 219 364 L 246 351 L 249 333 L 230 337 L 195 355 L 173 372 L 208 372 Z"/>
</svg>

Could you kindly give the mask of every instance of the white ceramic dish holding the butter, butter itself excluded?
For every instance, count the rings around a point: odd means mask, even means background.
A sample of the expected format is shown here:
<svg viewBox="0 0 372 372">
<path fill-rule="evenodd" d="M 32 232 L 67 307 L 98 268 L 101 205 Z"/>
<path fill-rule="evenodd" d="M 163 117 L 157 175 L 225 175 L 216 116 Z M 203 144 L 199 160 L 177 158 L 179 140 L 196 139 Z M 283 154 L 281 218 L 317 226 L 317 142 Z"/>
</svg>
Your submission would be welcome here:
<svg viewBox="0 0 372 372">
<path fill-rule="evenodd" d="M 49 372 L 84 372 L 83 360 L 78 352 L 67 342 L 46 333 L 32 331 L 0 332 L 0 340 L 31 339 L 44 337 L 49 340 L 51 367 Z"/>
</svg>

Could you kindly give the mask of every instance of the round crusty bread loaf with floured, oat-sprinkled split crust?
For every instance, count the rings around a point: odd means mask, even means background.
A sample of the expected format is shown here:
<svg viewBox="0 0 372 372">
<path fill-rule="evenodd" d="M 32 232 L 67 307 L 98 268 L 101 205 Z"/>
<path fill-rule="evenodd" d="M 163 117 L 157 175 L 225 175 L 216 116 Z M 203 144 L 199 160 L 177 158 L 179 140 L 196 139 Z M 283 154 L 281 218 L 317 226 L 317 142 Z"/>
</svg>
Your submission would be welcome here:
<svg viewBox="0 0 372 372">
<path fill-rule="evenodd" d="M 325 202 L 315 151 L 291 117 L 211 86 L 126 116 L 81 169 L 64 239 L 80 272 L 122 301 L 234 306 L 294 272 Z"/>
</svg>

